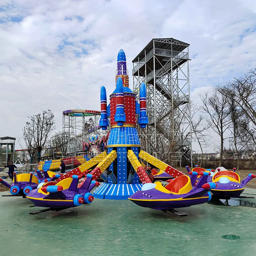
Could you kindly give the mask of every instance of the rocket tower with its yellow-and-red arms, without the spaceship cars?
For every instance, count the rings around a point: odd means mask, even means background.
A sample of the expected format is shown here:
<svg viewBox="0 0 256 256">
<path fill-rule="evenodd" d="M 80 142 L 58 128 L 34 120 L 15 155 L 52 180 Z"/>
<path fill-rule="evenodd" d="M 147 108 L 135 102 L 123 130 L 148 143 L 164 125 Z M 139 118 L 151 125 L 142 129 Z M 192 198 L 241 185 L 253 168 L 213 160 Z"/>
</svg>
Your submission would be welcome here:
<svg viewBox="0 0 256 256">
<path fill-rule="evenodd" d="M 127 199 L 130 195 L 140 190 L 142 184 L 152 183 L 154 179 L 152 174 L 148 175 L 146 173 L 146 168 L 143 168 L 138 158 L 173 177 L 183 175 L 179 170 L 140 150 L 136 114 L 139 115 L 138 125 L 141 128 L 145 128 L 148 122 L 146 87 L 144 83 L 141 84 L 140 103 L 138 103 L 136 95 L 129 88 L 126 56 L 121 49 L 117 57 L 116 89 L 110 95 L 110 104 L 108 106 L 105 87 L 101 87 L 101 117 L 99 124 L 102 130 L 107 130 L 109 126 L 108 117 L 110 117 L 108 154 L 102 152 L 63 175 L 57 181 L 64 180 L 70 175 L 83 176 L 90 172 L 90 174 L 94 175 L 93 180 L 97 180 L 99 176 L 104 180 L 104 183 L 94 190 L 95 197 Z M 81 186 L 85 180 L 78 186 Z"/>
</svg>

